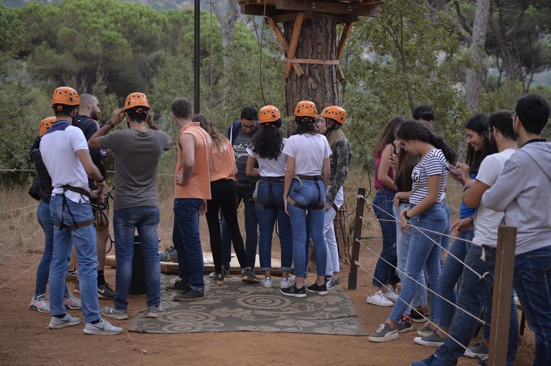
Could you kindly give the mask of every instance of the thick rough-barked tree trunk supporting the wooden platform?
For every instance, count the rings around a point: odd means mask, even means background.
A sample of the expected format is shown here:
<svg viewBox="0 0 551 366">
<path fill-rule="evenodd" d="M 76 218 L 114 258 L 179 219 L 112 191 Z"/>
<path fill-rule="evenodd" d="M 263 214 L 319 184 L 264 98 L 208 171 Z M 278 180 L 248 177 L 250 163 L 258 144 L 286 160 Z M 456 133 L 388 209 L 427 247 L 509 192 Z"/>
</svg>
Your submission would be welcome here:
<svg viewBox="0 0 551 366">
<path fill-rule="evenodd" d="M 294 58 L 309 60 L 335 60 L 337 57 L 336 22 L 329 17 L 304 19 Z M 284 23 L 284 35 L 289 44 L 295 22 Z M 287 54 L 285 55 L 287 56 Z M 316 63 L 302 63 L 304 75 L 298 76 L 291 68 L 291 76 L 285 80 L 285 99 L 287 116 L 293 116 L 295 105 L 300 100 L 311 100 L 318 111 L 325 105 L 338 105 L 337 66 Z M 346 197 L 343 208 L 346 209 Z M 339 211 L 336 217 L 346 216 L 346 211 Z M 335 219 L 335 235 L 339 247 L 339 257 L 349 257 L 350 234 L 346 219 Z M 315 257 L 313 248 L 311 259 Z M 310 261 L 310 272 L 315 272 L 315 260 Z"/>
</svg>

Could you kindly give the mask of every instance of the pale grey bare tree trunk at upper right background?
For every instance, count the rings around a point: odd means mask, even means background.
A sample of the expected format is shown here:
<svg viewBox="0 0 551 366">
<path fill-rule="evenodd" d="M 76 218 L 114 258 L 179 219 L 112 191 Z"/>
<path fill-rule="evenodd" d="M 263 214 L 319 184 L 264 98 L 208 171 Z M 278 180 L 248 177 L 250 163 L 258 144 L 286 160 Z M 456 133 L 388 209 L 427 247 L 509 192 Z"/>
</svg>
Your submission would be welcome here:
<svg viewBox="0 0 551 366">
<path fill-rule="evenodd" d="M 465 78 L 467 107 L 471 111 L 475 111 L 478 108 L 478 96 L 482 80 L 482 60 L 484 58 L 484 45 L 486 43 L 486 30 L 488 30 L 489 12 L 490 0 L 477 0 L 475 23 L 472 25 L 472 39 L 469 50 L 472 62 L 475 66 L 467 69 Z"/>
</svg>

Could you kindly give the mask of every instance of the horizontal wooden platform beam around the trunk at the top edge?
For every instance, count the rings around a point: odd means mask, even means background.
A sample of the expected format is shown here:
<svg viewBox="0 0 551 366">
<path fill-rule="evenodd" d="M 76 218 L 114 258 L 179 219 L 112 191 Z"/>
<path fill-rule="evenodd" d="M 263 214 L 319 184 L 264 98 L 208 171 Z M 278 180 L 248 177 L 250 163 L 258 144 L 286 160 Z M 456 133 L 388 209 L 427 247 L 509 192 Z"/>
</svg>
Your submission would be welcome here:
<svg viewBox="0 0 551 366">
<path fill-rule="evenodd" d="M 327 3 L 315 0 L 276 0 L 275 9 L 296 12 L 312 10 L 329 14 L 356 14 L 364 17 L 378 17 L 379 15 L 377 6 L 360 6 L 356 3 Z"/>
</svg>

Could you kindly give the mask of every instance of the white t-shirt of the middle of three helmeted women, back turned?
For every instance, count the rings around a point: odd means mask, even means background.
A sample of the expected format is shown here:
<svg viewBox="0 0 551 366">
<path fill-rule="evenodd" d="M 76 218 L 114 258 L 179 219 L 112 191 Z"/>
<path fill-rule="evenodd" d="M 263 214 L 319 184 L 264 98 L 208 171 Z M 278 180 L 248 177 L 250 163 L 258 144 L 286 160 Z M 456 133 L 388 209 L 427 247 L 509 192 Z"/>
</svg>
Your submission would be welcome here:
<svg viewBox="0 0 551 366">
<path fill-rule="evenodd" d="M 331 155 L 325 136 L 293 135 L 287 140 L 283 152 L 295 158 L 295 174 L 322 175 L 323 160 Z"/>
</svg>

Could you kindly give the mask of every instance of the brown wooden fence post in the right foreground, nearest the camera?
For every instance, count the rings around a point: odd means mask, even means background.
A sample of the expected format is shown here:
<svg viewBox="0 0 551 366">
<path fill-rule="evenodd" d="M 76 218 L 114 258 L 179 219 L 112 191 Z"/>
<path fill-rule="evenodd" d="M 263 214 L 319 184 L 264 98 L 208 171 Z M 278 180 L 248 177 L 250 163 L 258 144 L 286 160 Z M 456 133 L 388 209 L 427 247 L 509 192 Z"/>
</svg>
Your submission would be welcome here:
<svg viewBox="0 0 551 366">
<path fill-rule="evenodd" d="M 492 294 L 492 323 L 488 344 L 488 365 L 506 365 L 511 314 L 514 250 L 517 246 L 517 228 L 499 226 Z"/>
</svg>

